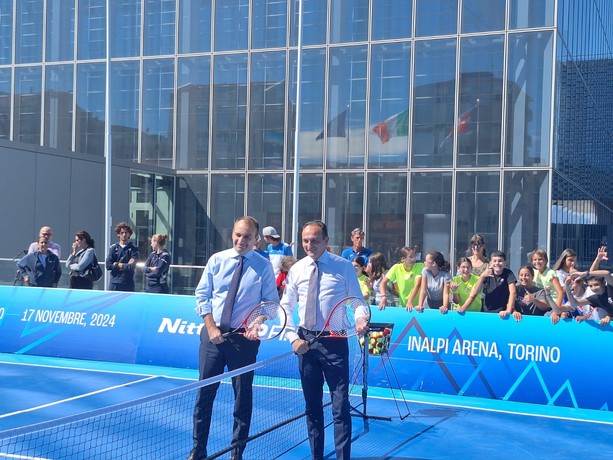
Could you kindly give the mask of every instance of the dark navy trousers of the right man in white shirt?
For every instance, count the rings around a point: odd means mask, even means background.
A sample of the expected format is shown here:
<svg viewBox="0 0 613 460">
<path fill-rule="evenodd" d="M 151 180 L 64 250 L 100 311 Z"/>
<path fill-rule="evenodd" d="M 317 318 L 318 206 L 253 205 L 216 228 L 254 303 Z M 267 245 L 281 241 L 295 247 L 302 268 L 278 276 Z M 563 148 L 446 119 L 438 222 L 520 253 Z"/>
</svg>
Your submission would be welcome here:
<svg viewBox="0 0 613 460">
<path fill-rule="evenodd" d="M 315 334 L 299 329 L 309 340 Z M 334 446 L 338 460 L 351 457 L 351 407 L 349 405 L 349 345 L 347 339 L 323 338 L 298 356 L 300 379 L 306 403 L 307 430 L 314 460 L 324 458 L 324 379 L 332 397 Z"/>
</svg>

